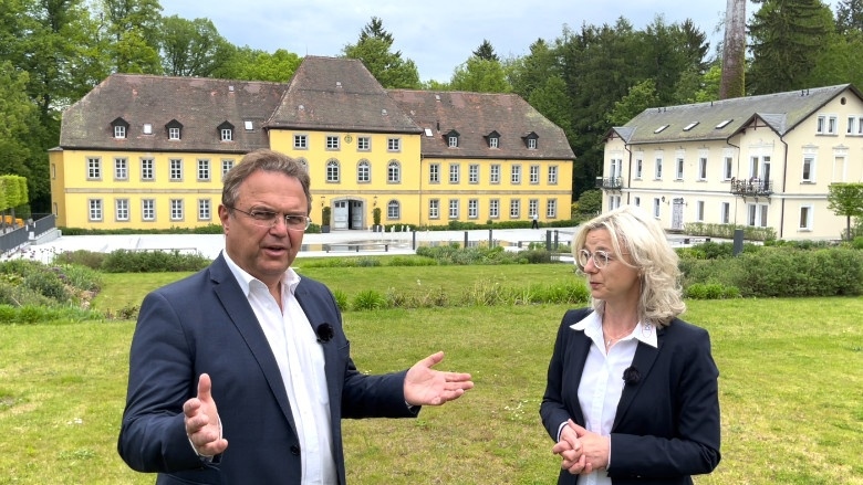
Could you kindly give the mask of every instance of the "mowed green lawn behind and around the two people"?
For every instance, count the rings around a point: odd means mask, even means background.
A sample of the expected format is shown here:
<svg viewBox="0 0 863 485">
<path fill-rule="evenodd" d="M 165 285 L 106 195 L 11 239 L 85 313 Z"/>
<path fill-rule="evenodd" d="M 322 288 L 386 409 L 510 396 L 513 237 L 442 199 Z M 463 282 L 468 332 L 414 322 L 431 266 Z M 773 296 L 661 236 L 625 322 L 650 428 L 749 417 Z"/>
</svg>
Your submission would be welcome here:
<svg viewBox="0 0 863 485">
<path fill-rule="evenodd" d="M 488 273 L 484 273 L 488 272 Z M 355 294 L 574 277 L 570 265 L 309 268 Z M 139 304 L 183 275 L 105 275 L 96 308 Z M 420 280 L 417 285 L 416 278 Z M 704 484 L 863 484 L 863 298 L 687 302 L 720 377 L 722 462 Z M 114 306 L 118 305 L 118 306 Z M 538 408 L 561 305 L 347 312 L 360 369 L 443 349 L 462 399 L 416 420 L 344 422 L 352 484 L 549 484 L 559 461 Z M 152 484 L 116 454 L 134 321 L 0 326 L 0 484 Z"/>
</svg>

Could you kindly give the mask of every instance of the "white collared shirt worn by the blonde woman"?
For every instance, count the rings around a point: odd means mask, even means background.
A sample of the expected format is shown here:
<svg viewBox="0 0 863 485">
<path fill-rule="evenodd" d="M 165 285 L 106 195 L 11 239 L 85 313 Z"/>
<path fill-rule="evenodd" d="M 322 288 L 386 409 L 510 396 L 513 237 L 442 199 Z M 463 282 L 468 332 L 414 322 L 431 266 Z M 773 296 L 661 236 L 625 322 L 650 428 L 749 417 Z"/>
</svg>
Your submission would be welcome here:
<svg viewBox="0 0 863 485">
<path fill-rule="evenodd" d="M 602 436 L 610 436 L 617 403 L 623 393 L 623 371 L 632 366 L 640 341 L 653 347 L 657 346 L 656 327 L 640 321 L 632 333 L 617 340 L 607 354 L 602 335 L 602 317 L 596 312 L 592 312 L 570 328 L 584 331 L 584 335 L 593 341 L 579 384 L 579 405 L 584 414 L 584 428 Z M 611 461 L 611 449 L 609 460 Z M 611 483 L 605 470 L 581 475 L 578 479 L 579 485 L 611 485 Z"/>
</svg>

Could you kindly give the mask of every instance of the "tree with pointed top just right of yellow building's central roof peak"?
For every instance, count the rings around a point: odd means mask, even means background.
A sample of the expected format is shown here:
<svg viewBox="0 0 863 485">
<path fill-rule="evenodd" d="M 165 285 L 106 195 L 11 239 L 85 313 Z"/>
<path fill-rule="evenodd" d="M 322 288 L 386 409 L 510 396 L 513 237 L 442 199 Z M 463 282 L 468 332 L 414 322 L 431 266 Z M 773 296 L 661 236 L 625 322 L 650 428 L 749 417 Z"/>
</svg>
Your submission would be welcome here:
<svg viewBox="0 0 863 485">
<path fill-rule="evenodd" d="M 360 32 L 356 44 L 347 44 L 342 50 L 345 57 L 363 62 L 372 75 L 387 89 L 419 88 L 419 71 L 414 61 L 402 59 L 402 52 L 392 52 L 393 35 L 385 31 L 383 21 L 372 17 L 372 21 Z"/>
</svg>

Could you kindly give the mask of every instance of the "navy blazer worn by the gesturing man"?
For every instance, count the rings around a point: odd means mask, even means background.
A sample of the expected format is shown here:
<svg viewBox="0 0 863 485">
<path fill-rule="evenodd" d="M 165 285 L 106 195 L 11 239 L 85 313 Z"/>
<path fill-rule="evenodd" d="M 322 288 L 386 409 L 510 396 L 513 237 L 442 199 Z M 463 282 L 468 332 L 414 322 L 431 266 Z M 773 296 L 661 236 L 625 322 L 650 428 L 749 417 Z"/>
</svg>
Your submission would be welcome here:
<svg viewBox="0 0 863 485">
<path fill-rule="evenodd" d="M 405 372 L 366 376 L 351 360 L 332 293 L 303 277 L 295 291 L 323 347 L 334 460 L 345 483 L 342 418 L 409 418 Z M 228 449 L 204 463 L 186 436 L 183 403 L 198 377 L 212 379 Z M 129 352 L 126 409 L 117 449 L 157 484 L 300 484 L 300 442 L 279 367 L 254 313 L 222 255 L 206 270 L 148 294 Z"/>
</svg>

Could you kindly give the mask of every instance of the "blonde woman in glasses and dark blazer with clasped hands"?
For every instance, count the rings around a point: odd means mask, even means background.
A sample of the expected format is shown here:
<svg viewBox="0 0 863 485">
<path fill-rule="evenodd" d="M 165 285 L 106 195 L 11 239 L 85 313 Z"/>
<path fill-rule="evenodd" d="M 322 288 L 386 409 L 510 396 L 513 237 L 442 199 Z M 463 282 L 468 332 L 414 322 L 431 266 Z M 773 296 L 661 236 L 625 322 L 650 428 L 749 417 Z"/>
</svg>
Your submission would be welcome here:
<svg viewBox="0 0 863 485">
<path fill-rule="evenodd" d="M 719 371 L 706 330 L 677 318 L 677 254 L 633 207 L 582 226 L 572 252 L 591 308 L 569 310 L 542 423 L 559 484 L 692 484 L 719 463 Z"/>
</svg>

